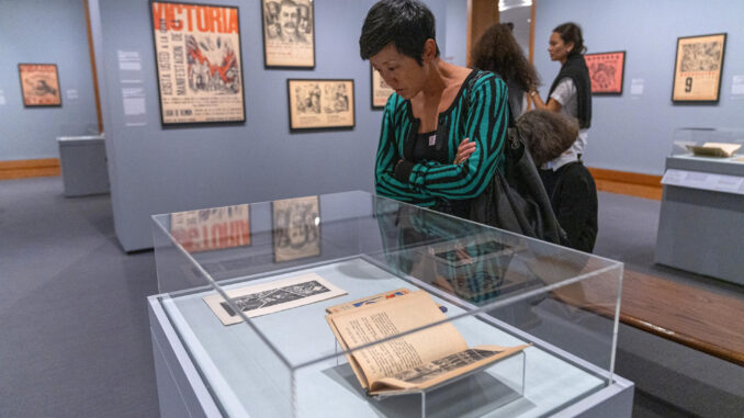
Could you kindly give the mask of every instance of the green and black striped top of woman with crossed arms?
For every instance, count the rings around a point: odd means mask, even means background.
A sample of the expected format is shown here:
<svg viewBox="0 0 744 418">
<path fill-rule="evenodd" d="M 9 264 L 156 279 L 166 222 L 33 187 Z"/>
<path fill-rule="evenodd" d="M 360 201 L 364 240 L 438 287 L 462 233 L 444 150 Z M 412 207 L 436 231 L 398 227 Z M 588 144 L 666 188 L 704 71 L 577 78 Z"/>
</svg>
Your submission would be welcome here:
<svg viewBox="0 0 744 418">
<path fill-rule="evenodd" d="M 410 101 L 393 93 L 382 120 L 375 162 L 375 190 L 381 196 L 431 207 L 439 201 L 478 196 L 500 166 L 508 125 L 506 83 L 491 72 L 473 70 L 462 83 L 452 105 L 439 114 L 437 134 L 444 134 L 449 160 L 454 161 L 464 138 L 476 143 L 475 151 L 460 165 L 437 161 L 410 162 L 419 126 Z M 403 159 L 402 167 L 396 165 Z"/>
</svg>

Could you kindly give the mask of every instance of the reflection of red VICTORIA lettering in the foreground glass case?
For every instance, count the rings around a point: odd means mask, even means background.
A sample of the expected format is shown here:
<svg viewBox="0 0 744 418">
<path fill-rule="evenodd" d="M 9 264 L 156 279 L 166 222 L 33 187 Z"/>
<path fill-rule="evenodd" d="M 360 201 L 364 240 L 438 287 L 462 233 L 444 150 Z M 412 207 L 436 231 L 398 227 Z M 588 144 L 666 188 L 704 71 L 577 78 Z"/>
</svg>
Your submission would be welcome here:
<svg viewBox="0 0 744 418">
<path fill-rule="evenodd" d="M 250 207 L 235 205 L 170 215 L 170 234 L 188 252 L 250 245 Z"/>
</svg>

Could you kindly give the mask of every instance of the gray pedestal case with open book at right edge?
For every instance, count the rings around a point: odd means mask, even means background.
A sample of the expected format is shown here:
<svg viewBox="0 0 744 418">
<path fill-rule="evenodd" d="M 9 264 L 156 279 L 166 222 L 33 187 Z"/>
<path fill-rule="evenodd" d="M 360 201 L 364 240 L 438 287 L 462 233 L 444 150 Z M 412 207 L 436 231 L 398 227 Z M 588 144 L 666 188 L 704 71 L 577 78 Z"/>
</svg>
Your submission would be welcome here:
<svg viewBox="0 0 744 418">
<path fill-rule="evenodd" d="M 744 129 L 680 128 L 674 138 L 656 262 L 744 284 Z"/>
</svg>

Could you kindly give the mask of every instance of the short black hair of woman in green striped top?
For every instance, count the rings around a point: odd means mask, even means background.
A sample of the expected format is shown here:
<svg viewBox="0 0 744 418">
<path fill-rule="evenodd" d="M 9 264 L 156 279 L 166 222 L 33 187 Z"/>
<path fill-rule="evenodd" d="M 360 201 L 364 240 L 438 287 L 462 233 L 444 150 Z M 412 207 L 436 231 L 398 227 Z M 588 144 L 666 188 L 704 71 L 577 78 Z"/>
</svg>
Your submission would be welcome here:
<svg viewBox="0 0 744 418">
<path fill-rule="evenodd" d="M 424 44 L 429 38 L 437 41 L 435 26 L 433 13 L 418 0 L 379 1 L 367 12 L 359 53 L 362 59 L 370 59 L 392 42 L 398 53 L 421 65 Z"/>
</svg>

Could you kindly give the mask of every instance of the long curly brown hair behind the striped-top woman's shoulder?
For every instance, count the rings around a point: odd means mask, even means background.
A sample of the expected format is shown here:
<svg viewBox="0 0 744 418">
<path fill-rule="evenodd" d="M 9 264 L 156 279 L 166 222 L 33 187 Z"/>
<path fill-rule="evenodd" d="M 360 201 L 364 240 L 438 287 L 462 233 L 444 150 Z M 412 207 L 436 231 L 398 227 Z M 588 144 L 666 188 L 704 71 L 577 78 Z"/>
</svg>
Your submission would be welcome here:
<svg viewBox="0 0 744 418">
<path fill-rule="evenodd" d="M 527 106 L 526 93 L 540 84 L 540 77 L 517 44 L 511 27 L 508 23 L 488 27 L 473 47 L 471 64 L 474 68 L 495 72 L 506 81 L 509 108 L 512 117 L 517 118 Z"/>
</svg>

